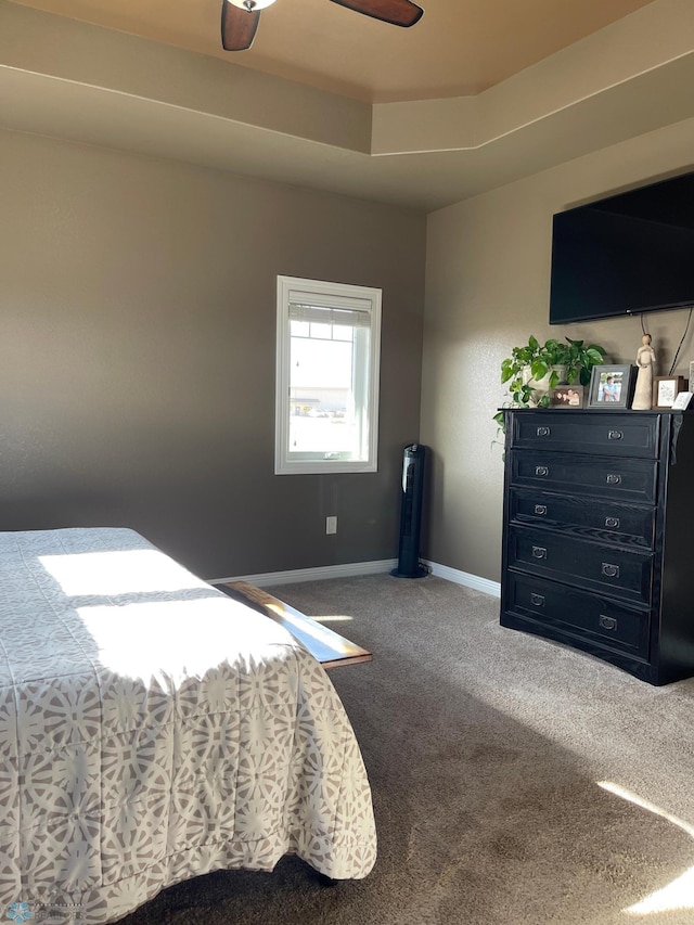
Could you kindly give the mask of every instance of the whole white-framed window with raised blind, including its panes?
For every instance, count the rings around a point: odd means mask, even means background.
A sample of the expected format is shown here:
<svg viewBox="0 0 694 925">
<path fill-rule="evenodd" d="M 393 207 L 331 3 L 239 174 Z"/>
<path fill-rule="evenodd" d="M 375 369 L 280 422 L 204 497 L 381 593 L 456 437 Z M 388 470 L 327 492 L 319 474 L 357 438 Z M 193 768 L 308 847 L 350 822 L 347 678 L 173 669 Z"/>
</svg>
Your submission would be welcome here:
<svg viewBox="0 0 694 925">
<path fill-rule="evenodd" d="M 278 277 L 277 475 L 376 472 L 381 290 Z"/>
</svg>

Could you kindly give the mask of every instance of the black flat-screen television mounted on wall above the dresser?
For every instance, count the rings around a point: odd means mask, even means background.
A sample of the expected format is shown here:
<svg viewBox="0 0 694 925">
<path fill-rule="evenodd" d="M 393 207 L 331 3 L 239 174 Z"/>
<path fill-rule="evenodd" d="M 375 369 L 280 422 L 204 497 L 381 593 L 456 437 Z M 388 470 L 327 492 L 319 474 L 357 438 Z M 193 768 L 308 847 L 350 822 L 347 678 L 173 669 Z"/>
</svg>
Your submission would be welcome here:
<svg viewBox="0 0 694 925">
<path fill-rule="evenodd" d="M 557 213 L 550 324 L 694 305 L 694 172 Z"/>
</svg>

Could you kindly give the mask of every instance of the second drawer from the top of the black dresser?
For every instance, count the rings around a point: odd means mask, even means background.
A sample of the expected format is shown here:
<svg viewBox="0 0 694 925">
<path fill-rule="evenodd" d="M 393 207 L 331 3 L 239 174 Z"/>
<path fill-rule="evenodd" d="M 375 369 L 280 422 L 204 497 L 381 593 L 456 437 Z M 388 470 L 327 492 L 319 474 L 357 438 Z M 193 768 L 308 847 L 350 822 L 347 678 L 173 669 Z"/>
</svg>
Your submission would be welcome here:
<svg viewBox="0 0 694 925">
<path fill-rule="evenodd" d="M 656 501 L 658 463 L 655 460 L 512 450 L 507 463 L 513 487 L 532 486 L 642 504 Z"/>
</svg>

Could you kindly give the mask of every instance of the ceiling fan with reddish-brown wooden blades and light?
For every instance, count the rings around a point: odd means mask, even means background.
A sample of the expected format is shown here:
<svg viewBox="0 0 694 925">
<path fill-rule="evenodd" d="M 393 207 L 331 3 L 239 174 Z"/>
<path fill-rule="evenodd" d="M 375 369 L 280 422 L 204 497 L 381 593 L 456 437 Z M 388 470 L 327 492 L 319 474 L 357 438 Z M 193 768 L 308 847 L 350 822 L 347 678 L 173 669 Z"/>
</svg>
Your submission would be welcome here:
<svg viewBox="0 0 694 925">
<path fill-rule="evenodd" d="M 348 10 L 364 13 L 394 26 L 413 26 L 424 10 L 412 0 L 332 0 Z M 250 48 L 260 21 L 260 11 L 274 0 L 222 0 L 221 43 L 224 51 Z"/>
</svg>

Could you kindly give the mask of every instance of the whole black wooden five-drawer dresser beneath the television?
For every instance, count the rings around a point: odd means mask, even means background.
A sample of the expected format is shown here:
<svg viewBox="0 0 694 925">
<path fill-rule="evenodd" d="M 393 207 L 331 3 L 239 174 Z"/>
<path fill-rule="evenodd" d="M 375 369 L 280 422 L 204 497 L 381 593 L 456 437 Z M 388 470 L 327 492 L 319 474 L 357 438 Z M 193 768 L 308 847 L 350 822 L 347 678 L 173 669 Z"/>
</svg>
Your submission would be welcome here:
<svg viewBox="0 0 694 925">
<path fill-rule="evenodd" d="M 506 410 L 501 624 L 694 675 L 694 412 Z"/>
</svg>

